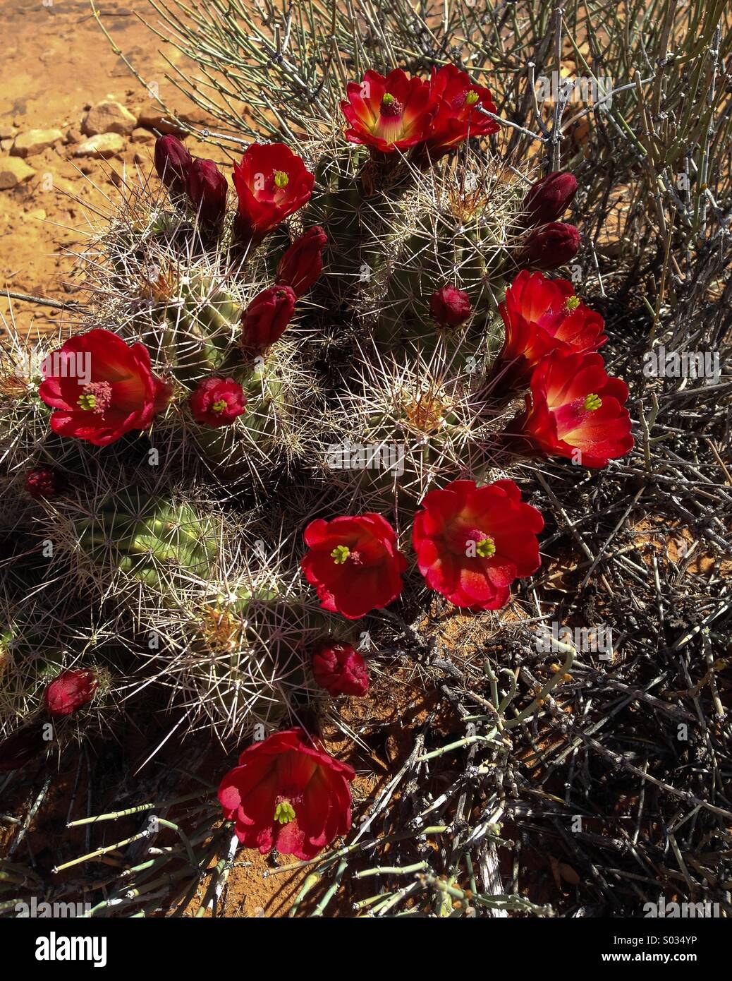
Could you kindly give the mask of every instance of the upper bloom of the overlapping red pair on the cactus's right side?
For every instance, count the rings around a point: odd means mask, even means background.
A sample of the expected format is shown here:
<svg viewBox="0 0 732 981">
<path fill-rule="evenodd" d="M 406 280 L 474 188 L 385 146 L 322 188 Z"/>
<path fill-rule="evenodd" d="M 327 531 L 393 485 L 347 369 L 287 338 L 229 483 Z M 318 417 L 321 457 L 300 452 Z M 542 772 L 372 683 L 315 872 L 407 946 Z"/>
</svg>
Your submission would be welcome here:
<svg viewBox="0 0 732 981">
<path fill-rule="evenodd" d="M 506 290 L 499 306 L 506 327 L 504 346 L 494 373 L 504 382 L 524 381 L 534 365 L 559 350 L 565 354 L 597 351 L 607 341 L 605 321 L 590 310 L 568 280 L 548 280 L 542 273 L 522 270 Z"/>
</svg>

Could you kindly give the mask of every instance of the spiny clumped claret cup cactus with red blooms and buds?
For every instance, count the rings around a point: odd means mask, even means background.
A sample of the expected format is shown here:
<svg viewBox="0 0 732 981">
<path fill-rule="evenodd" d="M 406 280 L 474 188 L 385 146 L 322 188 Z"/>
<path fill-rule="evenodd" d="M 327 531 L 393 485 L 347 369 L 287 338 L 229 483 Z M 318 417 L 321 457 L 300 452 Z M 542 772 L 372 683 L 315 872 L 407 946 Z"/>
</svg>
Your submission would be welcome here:
<svg viewBox="0 0 732 981">
<path fill-rule="evenodd" d="M 453 65 L 341 94 L 329 129 L 228 173 L 160 137 L 160 186 L 127 187 L 90 250 L 89 312 L 39 385 L 2 388 L 48 580 L 129 638 L 127 704 L 162 690 L 228 748 L 366 694 L 360 638 L 404 591 L 509 601 L 543 528 L 513 461 L 632 445 L 602 318 L 547 274 L 579 247 L 572 176 L 508 167 Z"/>
</svg>

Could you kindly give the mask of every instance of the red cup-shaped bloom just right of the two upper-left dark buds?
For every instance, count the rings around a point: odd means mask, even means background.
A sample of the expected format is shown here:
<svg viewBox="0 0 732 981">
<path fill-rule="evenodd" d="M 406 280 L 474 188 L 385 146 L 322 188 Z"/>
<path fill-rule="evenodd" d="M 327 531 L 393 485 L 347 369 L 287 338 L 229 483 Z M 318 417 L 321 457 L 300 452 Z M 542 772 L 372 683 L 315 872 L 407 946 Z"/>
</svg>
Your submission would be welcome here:
<svg viewBox="0 0 732 981">
<path fill-rule="evenodd" d="M 252 143 L 234 164 L 238 231 L 261 241 L 310 199 L 315 180 L 284 143 Z"/>
</svg>

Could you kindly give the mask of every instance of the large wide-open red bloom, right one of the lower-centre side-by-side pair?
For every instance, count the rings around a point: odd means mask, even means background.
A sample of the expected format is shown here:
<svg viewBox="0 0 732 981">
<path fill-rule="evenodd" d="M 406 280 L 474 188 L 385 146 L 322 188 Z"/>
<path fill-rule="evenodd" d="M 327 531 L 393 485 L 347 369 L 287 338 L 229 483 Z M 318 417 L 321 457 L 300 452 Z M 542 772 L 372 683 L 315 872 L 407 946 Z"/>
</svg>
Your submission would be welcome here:
<svg viewBox="0 0 732 981">
<path fill-rule="evenodd" d="M 453 481 L 430 490 L 422 507 L 412 533 L 419 572 L 456 606 L 499 609 L 509 601 L 513 580 L 541 565 L 536 536 L 544 519 L 521 501 L 512 481 L 482 488 Z"/>
</svg>

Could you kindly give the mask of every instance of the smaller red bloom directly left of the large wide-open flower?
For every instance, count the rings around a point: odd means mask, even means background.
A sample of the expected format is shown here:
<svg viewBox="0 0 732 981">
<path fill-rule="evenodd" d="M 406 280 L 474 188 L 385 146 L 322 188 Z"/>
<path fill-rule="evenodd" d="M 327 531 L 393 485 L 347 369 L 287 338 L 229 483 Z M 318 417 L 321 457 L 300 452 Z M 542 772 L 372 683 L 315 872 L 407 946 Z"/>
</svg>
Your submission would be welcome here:
<svg viewBox="0 0 732 981">
<path fill-rule="evenodd" d="M 407 561 L 380 514 L 317 518 L 305 529 L 305 543 L 310 551 L 300 564 L 323 609 L 358 620 L 402 592 Z"/>
</svg>

